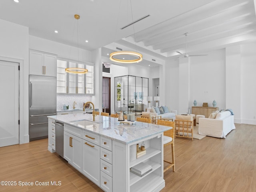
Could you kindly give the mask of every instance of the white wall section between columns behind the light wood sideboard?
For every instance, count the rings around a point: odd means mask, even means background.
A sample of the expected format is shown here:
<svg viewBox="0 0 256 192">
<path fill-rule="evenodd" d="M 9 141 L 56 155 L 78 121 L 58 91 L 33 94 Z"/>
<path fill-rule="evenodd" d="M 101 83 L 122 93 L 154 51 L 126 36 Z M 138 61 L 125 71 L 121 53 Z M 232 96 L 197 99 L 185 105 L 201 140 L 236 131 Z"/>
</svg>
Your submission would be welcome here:
<svg viewBox="0 0 256 192">
<path fill-rule="evenodd" d="M 226 108 L 226 56 L 225 50 L 216 50 L 208 56 L 189 57 L 190 98 L 189 107 L 208 103 L 212 107 L 216 100 L 219 109 Z"/>
</svg>

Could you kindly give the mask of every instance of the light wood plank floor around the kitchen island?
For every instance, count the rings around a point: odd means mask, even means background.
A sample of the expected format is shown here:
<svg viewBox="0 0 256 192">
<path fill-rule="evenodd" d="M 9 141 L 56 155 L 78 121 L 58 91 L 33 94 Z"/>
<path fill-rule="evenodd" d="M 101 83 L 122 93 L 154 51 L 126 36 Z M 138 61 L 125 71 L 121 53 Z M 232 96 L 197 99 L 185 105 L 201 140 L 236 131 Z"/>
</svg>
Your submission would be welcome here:
<svg viewBox="0 0 256 192">
<path fill-rule="evenodd" d="M 0 148 L 0 181 L 50 182 L 60 186 L 0 186 L 0 191 L 102 191 L 57 154 L 48 140 Z M 171 155 L 165 148 L 165 158 Z M 176 172 L 164 173 L 161 192 L 255 192 L 256 126 L 236 124 L 227 138 L 175 138 Z"/>
</svg>

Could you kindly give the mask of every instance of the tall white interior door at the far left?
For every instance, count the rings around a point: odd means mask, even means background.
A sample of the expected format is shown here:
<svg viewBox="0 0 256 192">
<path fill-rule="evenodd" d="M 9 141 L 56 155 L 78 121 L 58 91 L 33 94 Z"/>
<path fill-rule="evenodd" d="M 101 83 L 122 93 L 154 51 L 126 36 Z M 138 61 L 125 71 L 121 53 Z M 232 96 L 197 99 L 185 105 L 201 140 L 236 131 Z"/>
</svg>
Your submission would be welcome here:
<svg viewBox="0 0 256 192">
<path fill-rule="evenodd" d="M 0 61 L 0 147 L 19 143 L 18 63 Z"/>
</svg>

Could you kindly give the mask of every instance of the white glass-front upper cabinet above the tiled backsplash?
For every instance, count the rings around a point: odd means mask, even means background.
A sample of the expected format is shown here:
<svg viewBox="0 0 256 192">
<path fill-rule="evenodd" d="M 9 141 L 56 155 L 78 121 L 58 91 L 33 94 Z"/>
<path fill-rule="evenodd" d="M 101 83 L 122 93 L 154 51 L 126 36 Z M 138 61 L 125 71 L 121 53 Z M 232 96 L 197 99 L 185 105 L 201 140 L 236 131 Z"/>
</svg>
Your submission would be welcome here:
<svg viewBox="0 0 256 192">
<path fill-rule="evenodd" d="M 86 68 L 88 73 L 66 73 L 66 68 Z M 57 94 L 94 94 L 94 66 L 58 59 Z"/>
</svg>

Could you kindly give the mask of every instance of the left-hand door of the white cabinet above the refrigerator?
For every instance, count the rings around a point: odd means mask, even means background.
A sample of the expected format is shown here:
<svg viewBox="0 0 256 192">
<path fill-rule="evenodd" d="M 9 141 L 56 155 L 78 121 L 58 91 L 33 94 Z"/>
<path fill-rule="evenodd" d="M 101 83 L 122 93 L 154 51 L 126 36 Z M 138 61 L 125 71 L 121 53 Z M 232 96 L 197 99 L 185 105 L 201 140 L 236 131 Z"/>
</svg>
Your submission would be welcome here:
<svg viewBox="0 0 256 192">
<path fill-rule="evenodd" d="M 44 54 L 30 51 L 29 53 L 29 74 L 44 75 Z"/>
</svg>

